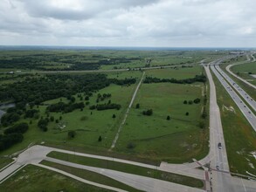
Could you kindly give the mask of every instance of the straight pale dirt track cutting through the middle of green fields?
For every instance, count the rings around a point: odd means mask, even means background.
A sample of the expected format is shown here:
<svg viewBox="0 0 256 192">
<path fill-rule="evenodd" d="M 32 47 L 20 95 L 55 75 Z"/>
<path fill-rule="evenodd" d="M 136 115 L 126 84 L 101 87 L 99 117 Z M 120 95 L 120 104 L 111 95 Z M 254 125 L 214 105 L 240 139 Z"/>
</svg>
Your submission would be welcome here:
<svg viewBox="0 0 256 192">
<path fill-rule="evenodd" d="M 123 118 L 123 120 L 121 121 L 121 124 L 120 124 L 120 126 L 119 126 L 119 128 L 118 128 L 118 131 L 117 131 L 117 133 L 115 134 L 114 141 L 112 142 L 112 145 L 111 145 L 110 149 L 112 149 L 112 148 L 115 147 L 115 143 L 116 143 L 116 141 L 117 141 L 118 138 L 119 138 L 119 134 L 120 134 L 120 132 L 121 132 L 121 128 L 122 128 L 123 125 L 125 124 L 125 121 L 126 121 L 126 119 L 127 119 L 127 117 L 128 117 L 129 110 L 130 110 L 130 108 L 132 107 L 132 105 L 133 105 L 133 103 L 134 103 L 134 101 L 135 101 L 136 94 L 137 94 L 137 92 L 138 92 L 138 90 L 139 90 L 139 88 L 140 88 L 140 86 L 141 86 L 141 84 L 142 84 L 142 80 L 143 80 L 143 78 L 144 78 L 144 75 L 145 75 L 145 72 L 142 73 L 142 78 L 141 78 L 141 80 L 140 80 L 138 86 L 137 86 L 136 89 L 135 89 L 135 93 L 133 94 L 133 97 L 132 97 L 131 102 L 130 102 L 128 108 L 127 108 L 126 113 L 124 114 L 124 118 Z"/>
</svg>

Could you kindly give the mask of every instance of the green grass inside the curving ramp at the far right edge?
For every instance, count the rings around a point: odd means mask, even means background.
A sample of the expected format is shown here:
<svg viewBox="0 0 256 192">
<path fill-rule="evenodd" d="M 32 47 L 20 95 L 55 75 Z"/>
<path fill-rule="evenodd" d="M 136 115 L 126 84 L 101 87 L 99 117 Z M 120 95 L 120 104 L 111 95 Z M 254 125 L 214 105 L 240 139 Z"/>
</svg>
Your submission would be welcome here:
<svg viewBox="0 0 256 192">
<path fill-rule="evenodd" d="M 252 72 L 252 74 L 256 74 L 256 62 L 253 63 L 246 63 L 242 65 L 234 65 L 231 68 L 232 72 L 237 73 L 239 72 L 239 76 L 243 79 L 249 79 L 248 81 L 252 83 L 253 85 L 256 85 L 256 79 L 253 78 L 252 75 L 249 74 L 249 72 Z"/>
</svg>

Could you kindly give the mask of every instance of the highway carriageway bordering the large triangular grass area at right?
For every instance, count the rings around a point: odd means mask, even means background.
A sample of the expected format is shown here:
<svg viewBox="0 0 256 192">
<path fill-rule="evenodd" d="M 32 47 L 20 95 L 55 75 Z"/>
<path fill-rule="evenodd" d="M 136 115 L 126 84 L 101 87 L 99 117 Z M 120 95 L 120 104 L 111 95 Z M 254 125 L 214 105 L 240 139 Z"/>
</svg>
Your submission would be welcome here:
<svg viewBox="0 0 256 192">
<path fill-rule="evenodd" d="M 253 114 L 251 109 L 246 105 L 245 102 L 242 101 L 242 99 L 240 99 L 239 95 L 232 90 L 231 86 L 229 86 L 220 73 L 218 73 L 215 65 L 211 65 L 211 71 L 214 72 L 222 86 L 225 87 L 226 92 L 229 93 L 233 101 L 237 104 L 237 106 L 239 106 L 240 111 L 245 115 L 246 120 L 248 120 L 248 122 L 251 124 L 254 131 L 256 131 L 256 116 Z"/>
</svg>

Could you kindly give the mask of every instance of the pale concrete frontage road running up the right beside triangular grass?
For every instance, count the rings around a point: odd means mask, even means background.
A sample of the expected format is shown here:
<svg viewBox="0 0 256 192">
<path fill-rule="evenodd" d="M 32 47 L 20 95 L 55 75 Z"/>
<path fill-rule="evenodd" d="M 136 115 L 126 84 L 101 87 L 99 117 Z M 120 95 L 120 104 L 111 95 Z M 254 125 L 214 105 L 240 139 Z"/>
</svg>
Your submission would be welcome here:
<svg viewBox="0 0 256 192">
<path fill-rule="evenodd" d="M 216 63 L 220 60 L 216 61 Z M 215 69 L 214 65 L 211 65 L 212 72 L 218 75 L 218 78 L 221 78 L 220 74 Z M 214 82 L 211 78 L 211 72 L 209 67 L 204 66 L 205 72 L 209 79 L 210 83 L 210 133 L 214 135 L 213 142 L 211 144 L 210 150 L 213 151 L 213 159 L 211 159 L 211 183 L 212 191 L 218 192 L 241 192 L 241 191 L 255 191 L 256 184 L 252 181 L 246 181 L 244 179 L 238 179 L 237 177 L 232 177 L 229 173 L 229 165 L 227 161 L 227 154 L 225 150 L 225 138 L 222 130 L 221 119 L 219 108 L 216 100 L 216 90 Z M 221 78 L 221 82 L 222 82 Z M 224 79 L 223 79 L 224 80 Z M 232 92 L 232 91 L 230 91 Z M 230 93 L 229 92 L 229 93 Z M 213 131 L 212 131 L 213 129 Z M 210 135 L 211 136 L 211 135 Z M 218 142 L 222 143 L 222 148 L 218 148 Z M 219 170 L 216 168 L 219 167 Z"/>
</svg>

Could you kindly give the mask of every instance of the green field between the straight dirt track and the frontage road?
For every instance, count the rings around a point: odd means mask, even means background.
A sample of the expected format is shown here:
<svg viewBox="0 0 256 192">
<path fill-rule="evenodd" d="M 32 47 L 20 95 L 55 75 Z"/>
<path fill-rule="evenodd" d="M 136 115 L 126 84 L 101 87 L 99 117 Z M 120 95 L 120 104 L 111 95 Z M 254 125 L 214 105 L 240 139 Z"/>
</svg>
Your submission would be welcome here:
<svg viewBox="0 0 256 192">
<path fill-rule="evenodd" d="M 198 127 L 203 84 L 142 84 L 114 150 L 158 161 L 184 162 L 203 158 L 208 152 L 208 129 Z M 140 108 L 135 105 L 139 103 Z M 142 115 L 153 109 L 152 116 Z M 185 113 L 189 115 L 185 115 Z M 170 120 L 166 120 L 170 115 Z M 132 143 L 133 148 L 128 148 Z"/>
</svg>

